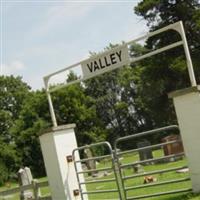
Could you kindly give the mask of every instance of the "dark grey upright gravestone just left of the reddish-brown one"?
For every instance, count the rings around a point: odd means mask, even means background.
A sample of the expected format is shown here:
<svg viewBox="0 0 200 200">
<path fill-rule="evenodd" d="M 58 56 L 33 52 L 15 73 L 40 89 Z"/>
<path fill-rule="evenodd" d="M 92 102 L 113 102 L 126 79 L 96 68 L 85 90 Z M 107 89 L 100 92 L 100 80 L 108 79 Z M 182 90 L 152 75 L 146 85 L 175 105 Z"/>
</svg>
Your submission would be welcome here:
<svg viewBox="0 0 200 200">
<path fill-rule="evenodd" d="M 137 148 L 142 148 L 147 146 L 151 146 L 151 143 L 148 140 L 144 140 L 142 142 L 137 143 Z M 140 161 L 152 159 L 153 158 L 152 149 L 139 150 L 139 157 Z M 151 163 L 145 163 L 145 164 L 151 164 Z"/>
</svg>

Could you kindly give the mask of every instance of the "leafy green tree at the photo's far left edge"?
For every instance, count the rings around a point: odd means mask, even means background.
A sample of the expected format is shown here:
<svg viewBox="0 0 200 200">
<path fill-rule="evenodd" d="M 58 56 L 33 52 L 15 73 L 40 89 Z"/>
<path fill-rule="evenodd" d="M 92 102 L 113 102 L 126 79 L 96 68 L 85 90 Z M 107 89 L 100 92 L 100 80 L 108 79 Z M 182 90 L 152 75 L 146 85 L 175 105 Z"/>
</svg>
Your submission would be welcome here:
<svg viewBox="0 0 200 200">
<path fill-rule="evenodd" d="M 10 132 L 29 94 L 30 87 L 21 77 L 0 76 L 0 183 L 19 167 L 21 157 Z"/>
</svg>

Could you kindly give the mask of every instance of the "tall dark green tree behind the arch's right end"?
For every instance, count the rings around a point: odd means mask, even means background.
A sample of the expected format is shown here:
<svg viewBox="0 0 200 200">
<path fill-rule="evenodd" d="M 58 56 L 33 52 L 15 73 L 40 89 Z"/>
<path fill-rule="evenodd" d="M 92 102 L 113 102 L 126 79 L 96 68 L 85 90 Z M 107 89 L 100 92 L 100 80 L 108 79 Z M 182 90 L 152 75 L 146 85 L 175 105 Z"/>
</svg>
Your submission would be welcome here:
<svg viewBox="0 0 200 200">
<path fill-rule="evenodd" d="M 192 59 L 199 81 L 200 69 L 200 3 L 197 0 L 143 0 L 135 12 L 147 20 L 150 31 L 179 20 L 183 21 Z M 180 40 L 174 31 L 156 35 L 146 41 L 145 48 L 154 50 Z M 190 86 L 183 48 L 176 48 L 139 63 L 137 105 L 152 120 L 153 127 L 176 123 L 172 102 L 167 94 Z"/>
</svg>

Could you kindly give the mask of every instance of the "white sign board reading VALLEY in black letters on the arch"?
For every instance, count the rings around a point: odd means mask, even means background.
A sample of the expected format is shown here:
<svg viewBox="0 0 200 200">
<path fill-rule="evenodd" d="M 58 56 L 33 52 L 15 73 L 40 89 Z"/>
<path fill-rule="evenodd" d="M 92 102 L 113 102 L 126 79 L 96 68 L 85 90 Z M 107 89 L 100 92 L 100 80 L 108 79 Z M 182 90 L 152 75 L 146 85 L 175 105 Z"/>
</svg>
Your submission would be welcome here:
<svg viewBox="0 0 200 200">
<path fill-rule="evenodd" d="M 122 45 L 83 61 L 81 68 L 84 78 L 97 76 L 130 63 L 127 45 Z"/>
</svg>

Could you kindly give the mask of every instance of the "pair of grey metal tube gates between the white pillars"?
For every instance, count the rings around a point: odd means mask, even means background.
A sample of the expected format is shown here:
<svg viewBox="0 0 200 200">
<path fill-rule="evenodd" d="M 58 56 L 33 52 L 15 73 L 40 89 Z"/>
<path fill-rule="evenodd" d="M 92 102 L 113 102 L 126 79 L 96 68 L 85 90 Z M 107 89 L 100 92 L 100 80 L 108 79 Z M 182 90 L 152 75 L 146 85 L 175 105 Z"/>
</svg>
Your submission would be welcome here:
<svg viewBox="0 0 200 200">
<path fill-rule="evenodd" d="M 184 152 L 168 152 L 167 155 L 165 152 L 167 149 L 169 151 L 170 148 L 180 145 L 180 138 L 161 141 L 161 143 L 156 144 L 149 143 L 142 147 L 136 145 L 136 142 L 144 140 L 144 138 L 151 141 L 154 137 L 152 141 L 160 141 L 159 138 L 163 138 L 169 133 L 177 135 L 177 132 L 179 132 L 178 126 L 172 125 L 119 138 L 114 143 L 114 150 L 108 142 L 75 149 L 73 157 L 82 200 L 84 200 L 85 195 L 88 195 L 90 200 L 131 200 L 192 191 Z M 123 145 L 123 143 L 126 144 Z M 125 147 L 128 147 L 128 150 Z M 103 155 L 98 154 L 98 156 L 84 159 L 75 155 L 76 151 L 81 154 L 81 151 L 85 149 L 94 148 L 96 150 L 103 148 L 101 151 Z M 152 157 L 147 156 L 149 151 Z M 104 155 L 105 153 L 106 155 Z M 100 163 L 97 168 L 80 171 L 77 167 L 80 163 L 83 164 L 92 160 Z M 109 172 L 110 174 L 108 173 L 106 178 L 87 176 L 88 173 L 92 172 L 100 174 Z M 80 180 L 80 175 L 83 174 L 85 181 Z M 174 176 L 176 177 L 174 178 Z M 101 184 L 101 186 L 98 187 L 98 184 Z M 87 187 L 87 191 L 84 191 L 83 185 Z M 89 185 L 92 185 L 92 187 Z M 100 190 L 105 185 L 108 186 L 107 189 Z M 115 188 L 113 188 L 114 186 Z"/>
</svg>

